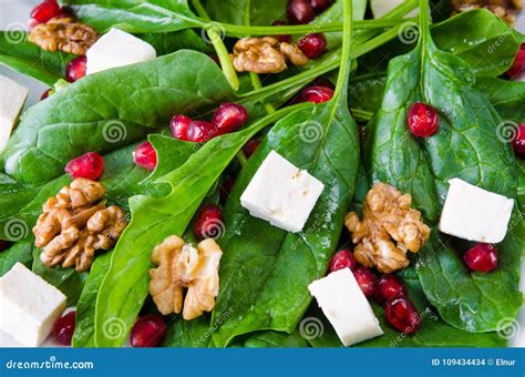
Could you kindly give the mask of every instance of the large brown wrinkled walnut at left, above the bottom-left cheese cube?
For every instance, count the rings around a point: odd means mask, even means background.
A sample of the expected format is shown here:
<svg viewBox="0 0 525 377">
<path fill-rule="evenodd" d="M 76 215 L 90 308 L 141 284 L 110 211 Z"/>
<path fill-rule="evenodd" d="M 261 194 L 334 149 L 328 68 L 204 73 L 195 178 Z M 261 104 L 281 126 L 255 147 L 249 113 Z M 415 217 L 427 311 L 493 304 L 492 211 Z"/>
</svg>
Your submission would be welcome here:
<svg viewBox="0 0 525 377">
<path fill-rule="evenodd" d="M 101 201 L 104 194 L 102 183 L 76 179 L 44 203 L 33 227 L 34 244 L 43 247 L 40 258 L 44 265 L 86 271 L 95 251 L 115 245 L 126 222 L 119 206 L 106 208 Z"/>
</svg>

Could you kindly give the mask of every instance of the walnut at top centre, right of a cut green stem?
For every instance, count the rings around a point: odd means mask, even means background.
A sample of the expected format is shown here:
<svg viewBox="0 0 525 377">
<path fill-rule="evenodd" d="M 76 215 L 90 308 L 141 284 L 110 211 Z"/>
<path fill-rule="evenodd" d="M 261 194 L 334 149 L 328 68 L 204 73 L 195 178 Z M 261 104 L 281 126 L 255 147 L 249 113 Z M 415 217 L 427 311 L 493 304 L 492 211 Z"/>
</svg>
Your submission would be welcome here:
<svg viewBox="0 0 525 377">
<path fill-rule="evenodd" d="M 277 73 L 287 69 L 286 60 L 298 67 L 308 63 L 300 49 L 274 37 L 240 39 L 230 58 L 237 72 Z"/>
</svg>

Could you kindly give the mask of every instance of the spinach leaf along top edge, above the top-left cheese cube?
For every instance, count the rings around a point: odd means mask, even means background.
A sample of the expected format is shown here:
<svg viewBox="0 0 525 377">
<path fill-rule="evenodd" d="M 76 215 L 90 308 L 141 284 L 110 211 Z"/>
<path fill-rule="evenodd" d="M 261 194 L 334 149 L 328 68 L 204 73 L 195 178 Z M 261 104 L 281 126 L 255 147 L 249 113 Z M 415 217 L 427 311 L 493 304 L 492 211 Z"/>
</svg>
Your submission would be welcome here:
<svg viewBox="0 0 525 377">
<path fill-rule="evenodd" d="M 68 0 L 82 22 L 103 32 L 171 32 L 198 27 L 186 0 Z"/>
</svg>

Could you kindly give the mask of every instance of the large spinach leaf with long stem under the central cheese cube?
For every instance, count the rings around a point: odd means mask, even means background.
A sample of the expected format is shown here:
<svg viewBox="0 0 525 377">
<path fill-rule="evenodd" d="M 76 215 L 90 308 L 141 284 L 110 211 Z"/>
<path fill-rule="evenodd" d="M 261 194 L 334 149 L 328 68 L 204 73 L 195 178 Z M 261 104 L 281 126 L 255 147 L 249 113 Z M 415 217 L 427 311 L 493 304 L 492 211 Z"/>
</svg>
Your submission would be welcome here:
<svg viewBox="0 0 525 377">
<path fill-rule="evenodd" d="M 344 68 L 333 99 L 279 121 L 243 169 L 228 198 L 227 228 L 219 241 L 227 252 L 220 263 L 220 289 L 212 317 L 212 326 L 218 328 L 214 333 L 217 346 L 262 329 L 294 332 L 310 302 L 307 286 L 326 273 L 339 240 L 359 163 L 359 137 L 346 94 L 351 6 L 344 3 Z M 239 203 L 243 191 L 271 150 L 325 184 L 300 233 L 287 233 L 255 218 Z M 222 320 L 227 313 L 231 315 Z"/>
</svg>

